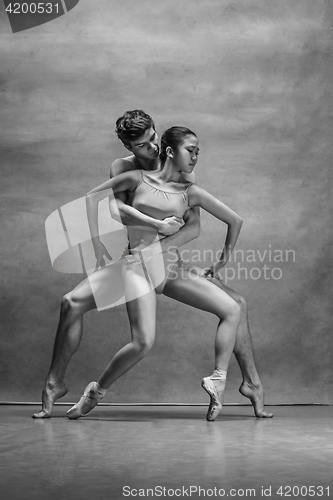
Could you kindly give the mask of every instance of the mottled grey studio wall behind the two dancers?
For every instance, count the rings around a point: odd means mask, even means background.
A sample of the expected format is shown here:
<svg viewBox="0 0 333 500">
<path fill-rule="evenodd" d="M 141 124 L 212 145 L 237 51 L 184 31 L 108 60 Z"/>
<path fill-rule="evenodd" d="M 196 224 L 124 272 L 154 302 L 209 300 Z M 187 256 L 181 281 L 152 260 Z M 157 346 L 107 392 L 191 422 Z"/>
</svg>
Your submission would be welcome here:
<svg viewBox="0 0 333 500">
<path fill-rule="evenodd" d="M 198 133 L 198 183 L 244 218 L 237 249 L 256 261 L 239 254 L 228 284 L 248 300 L 267 402 L 333 403 L 332 14 L 329 0 L 81 0 L 13 34 L 0 3 L 1 400 L 40 398 L 59 301 L 80 280 L 52 269 L 44 221 L 107 178 L 125 152 L 114 122 L 140 107 L 159 132 Z M 187 249 L 223 234 L 202 214 Z M 216 318 L 165 297 L 157 316 L 154 349 L 108 400 L 206 401 Z M 128 337 L 124 307 L 86 315 L 67 401 Z M 227 402 L 239 383 L 233 360 Z"/>
</svg>

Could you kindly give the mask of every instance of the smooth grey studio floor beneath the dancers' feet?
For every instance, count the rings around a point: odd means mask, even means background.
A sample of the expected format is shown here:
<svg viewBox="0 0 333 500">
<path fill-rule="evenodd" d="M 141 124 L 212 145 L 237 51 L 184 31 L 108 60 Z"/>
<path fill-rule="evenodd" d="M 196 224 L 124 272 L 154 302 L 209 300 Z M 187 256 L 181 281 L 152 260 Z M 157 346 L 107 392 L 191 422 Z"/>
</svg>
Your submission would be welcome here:
<svg viewBox="0 0 333 500">
<path fill-rule="evenodd" d="M 333 498 L 333 407 L 0 406 L 1 500 Z"/>
</svg>

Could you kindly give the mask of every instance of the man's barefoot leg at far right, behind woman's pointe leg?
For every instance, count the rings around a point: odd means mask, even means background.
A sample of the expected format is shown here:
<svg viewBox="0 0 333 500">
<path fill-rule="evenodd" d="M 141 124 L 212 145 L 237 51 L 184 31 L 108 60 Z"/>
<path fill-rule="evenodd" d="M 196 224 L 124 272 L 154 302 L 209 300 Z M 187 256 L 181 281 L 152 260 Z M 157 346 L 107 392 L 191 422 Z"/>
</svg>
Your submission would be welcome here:
<svg viewBox="0 0 333 500">
<path fill-rule="evenodd" d="M 239 392 L 251 400 L 256 417 L 271 418 L 273 413 L 268 413 L 264 410 L 264 390 L 254 361 L 246 301 L 244 297 L 226 286 L 221 280 L 217 278 L 207 279 L 224 290 L 240 306 L 241 321 L 234 347 L 234 354 L 243 375 L 243 382 L 239 388 Z"/>
</svg>

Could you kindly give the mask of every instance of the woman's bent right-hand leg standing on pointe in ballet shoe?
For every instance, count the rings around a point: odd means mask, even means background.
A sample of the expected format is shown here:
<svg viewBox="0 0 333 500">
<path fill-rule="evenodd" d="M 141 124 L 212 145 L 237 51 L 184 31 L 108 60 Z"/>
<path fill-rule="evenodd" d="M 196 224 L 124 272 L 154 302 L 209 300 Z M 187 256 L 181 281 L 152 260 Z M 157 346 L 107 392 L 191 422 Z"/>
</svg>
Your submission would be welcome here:
<svg viewBox="0 0 333 500">
<path fill-rule="evenodd" d="M 215 338 L 215 371 L 202 382 L 211 397 L 207 420 L 215 420 L 222 408 L 226 372 L 235 345 L 240 308 L 227 293 L 180 263 L 170 272 L 163 293 L 179 302 L 216 314 L 220 319 Z"/>
</svg>

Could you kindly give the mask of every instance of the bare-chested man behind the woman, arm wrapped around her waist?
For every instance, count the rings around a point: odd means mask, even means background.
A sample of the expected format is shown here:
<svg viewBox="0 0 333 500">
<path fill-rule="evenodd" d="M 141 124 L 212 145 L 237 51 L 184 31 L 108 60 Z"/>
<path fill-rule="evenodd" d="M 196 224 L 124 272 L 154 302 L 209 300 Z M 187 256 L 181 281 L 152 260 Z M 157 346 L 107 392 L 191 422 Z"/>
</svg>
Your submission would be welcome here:
<svg viewBox="0 0 333 500">
<path fill-rule="evenodd" d="M 154 122 L 149 115 L 142 110 L 126 112 L 117 120 L 116 133 L 125 148 L 132 154 L 113 162 L 110 177 L 115 177 L 129 170 L 156 170 L 159 167 L 158 137 Z M 185 179 L 185 181 L 191 180 L 194 179 Z M 183 225 L 176 217 L 168 217 L 161 221 L 146 216 L 127 205 L 127 200 L 123 194 L 117 195 L 116 198 L 117 207 L 112 206 L 111 203 L 111 212 L 113 216 L 119 212 L 122 224 L 125 226 L 150 226 L 159 233 L 166 235 L 160 241 L 162 252 L 173 246 L 184 245 L 199 235 L 200 216 L 198 209 L 192 208 L 185 213 L 185 224 Z M 97 267 L 105 265 L 105 256 L 110 258 L 106 249 L 101 247 L 101 252 L 96 255 Z M 96 271 L 96 273 L 98 272 Z M 251 400 L 256 417 L 270 418 L 273 416 L 272 413 L 264 410 L 263 388 L 254 362 L 245 299 L 214 276 L 213 266 L 206 273 L 206 276 L 216 286 L 228 293 L 240 306 L 241 322 L 234 348 L 234 354 L 243 375 L 243 382 L 239 391 L 243 396 Z M 112 280 L 109 286 L 113 286 Z M 63 382 L 65 371 L 81 342 L 83 315 L 94 308 L 96 308 L 96 302 L 88 279 L 85 279 L 63 297 L 51 367 L 42 395 L 43 407 L 40 412 L 33 415 L 34 418 L 51 417 L 54 402 L 67 393 L 67 388 Z M 143 350 L 145 349 L 144 345 L 141 347 Z"/>
</svg>

